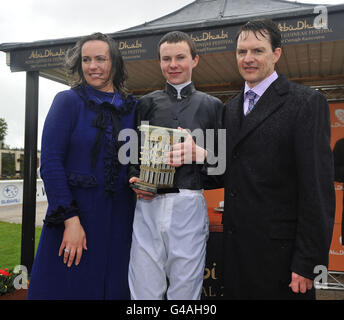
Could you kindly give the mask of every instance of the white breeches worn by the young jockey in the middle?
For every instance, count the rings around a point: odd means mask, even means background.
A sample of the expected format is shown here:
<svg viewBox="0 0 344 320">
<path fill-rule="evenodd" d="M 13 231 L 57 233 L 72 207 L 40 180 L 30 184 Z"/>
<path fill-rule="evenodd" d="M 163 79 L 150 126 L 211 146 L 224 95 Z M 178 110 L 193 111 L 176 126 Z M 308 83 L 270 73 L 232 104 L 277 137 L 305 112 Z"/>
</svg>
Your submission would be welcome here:
<svg viewBox="0 0 344 320">
<path fill-rule="evenodd" d="M 199 300 L 209 220 L 202 190 L 136 204 L 129 263 L 133 300 Z M 167 280 L 169 285 L 167 286 Z"/>
</svg>

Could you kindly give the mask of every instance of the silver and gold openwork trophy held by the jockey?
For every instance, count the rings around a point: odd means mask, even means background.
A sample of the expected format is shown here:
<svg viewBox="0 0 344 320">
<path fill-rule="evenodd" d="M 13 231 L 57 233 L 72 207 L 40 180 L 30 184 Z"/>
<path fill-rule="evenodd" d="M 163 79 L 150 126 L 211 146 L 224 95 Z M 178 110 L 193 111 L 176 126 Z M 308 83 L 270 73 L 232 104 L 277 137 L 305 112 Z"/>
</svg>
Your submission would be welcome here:
<svg viewBox="0 0 344 320">
<path fill-rule="evenodd" d="M 174 144 L 186 139 L 187 131 L 150 125 L 138 129 L 142 137 L 140 182 L 133 183 L 132 187 L 152 193 L 178 192 L 173 188 L 175 168 L 168 164 L 166 154 Z"/>
</svg>

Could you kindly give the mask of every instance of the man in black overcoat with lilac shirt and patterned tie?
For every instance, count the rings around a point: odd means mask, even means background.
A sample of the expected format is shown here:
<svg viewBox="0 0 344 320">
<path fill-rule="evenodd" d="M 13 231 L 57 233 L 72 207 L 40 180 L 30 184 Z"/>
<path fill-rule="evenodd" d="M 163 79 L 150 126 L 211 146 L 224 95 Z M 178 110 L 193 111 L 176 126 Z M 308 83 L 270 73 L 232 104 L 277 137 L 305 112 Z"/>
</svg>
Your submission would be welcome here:
<svg viewBox="0 0 344 320">
<path fill-rule="evenodd" d="M 314 268 L 328 265 L 335 210 L 329 106 L 317 91 L 277 75 L 281 53 L 273 22 L 240 29 L 245 89 L 224 118 L 227 299 L 314 299 Z"/>
</svg>

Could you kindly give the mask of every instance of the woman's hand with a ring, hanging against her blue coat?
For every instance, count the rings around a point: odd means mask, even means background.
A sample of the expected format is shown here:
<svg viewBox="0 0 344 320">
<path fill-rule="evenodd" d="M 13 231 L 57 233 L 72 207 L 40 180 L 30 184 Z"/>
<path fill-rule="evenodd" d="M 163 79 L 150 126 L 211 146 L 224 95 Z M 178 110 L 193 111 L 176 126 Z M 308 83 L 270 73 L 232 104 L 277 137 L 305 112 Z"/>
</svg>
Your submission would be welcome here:
<svg viewBox="0 0 344 320">
<path fill-rule="evenodd" d="M 80 263 L 82 250 L 87 250 L 86 234 L 78 216 L 65 220 L 65 231 L 59 249 L 59 257 L 63 254 L 63 263 L 70 267 L 75 258 L 75 265 Z"/>
</svg>

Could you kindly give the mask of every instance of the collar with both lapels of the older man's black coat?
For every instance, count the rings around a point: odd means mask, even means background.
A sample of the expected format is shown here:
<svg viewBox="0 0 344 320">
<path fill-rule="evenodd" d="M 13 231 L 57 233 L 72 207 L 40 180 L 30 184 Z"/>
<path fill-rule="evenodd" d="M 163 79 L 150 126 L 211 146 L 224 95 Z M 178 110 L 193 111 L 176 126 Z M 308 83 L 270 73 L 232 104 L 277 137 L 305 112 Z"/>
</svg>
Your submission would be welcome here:
<svg viewBox="0 0 344 320">
<path fill-rule="evenodd" d="M 289 92 L 289 81 L 281 75 L 274 81 L 260 97 L 259 101 L 245 117 L 240 127 L 240 117 L 243 113 L 243 91 L 235 98 L 233 103 L 229 103 L 228 110 L 229 130 L 234 139 L 234 145 L 243 140 L 251 131 L 257 128 L 267 117 L 279 109 L 287 98 Z"/>
</svg>

